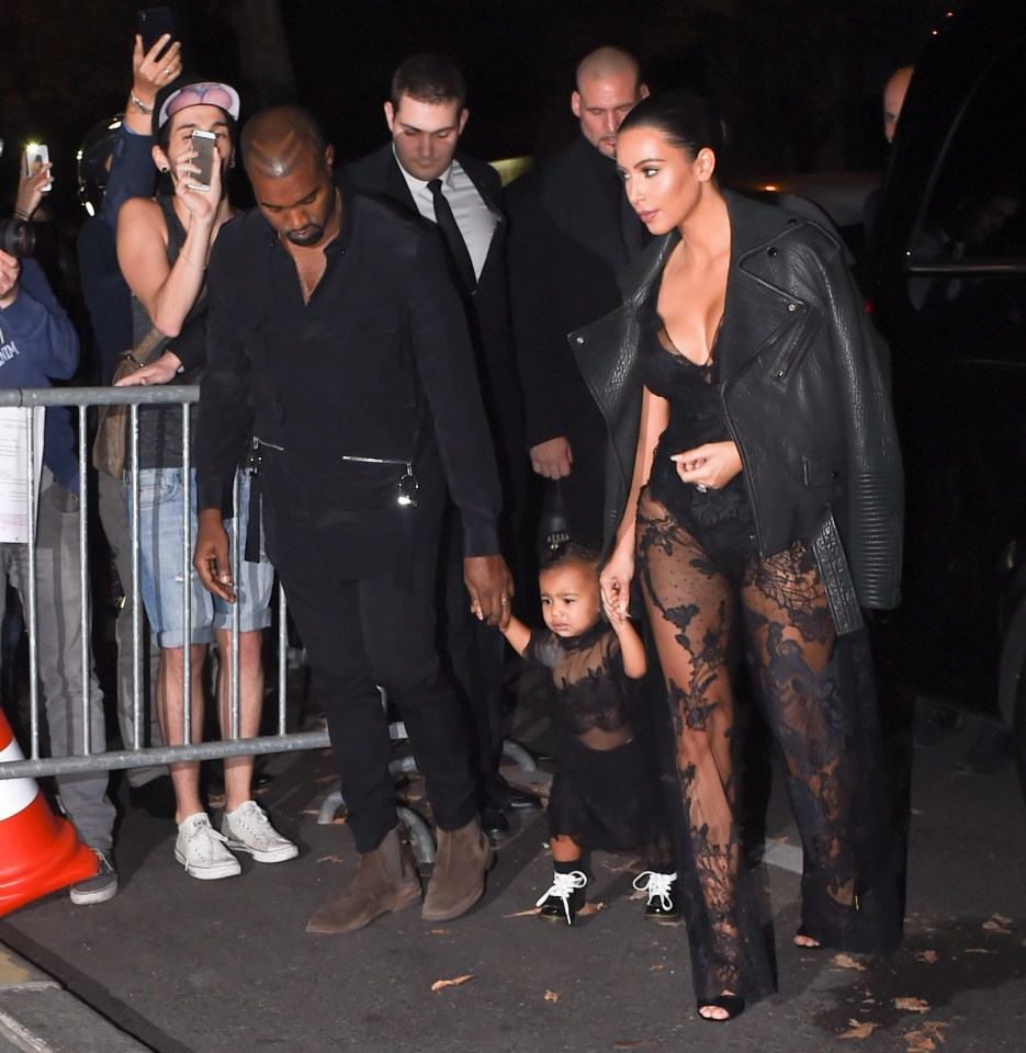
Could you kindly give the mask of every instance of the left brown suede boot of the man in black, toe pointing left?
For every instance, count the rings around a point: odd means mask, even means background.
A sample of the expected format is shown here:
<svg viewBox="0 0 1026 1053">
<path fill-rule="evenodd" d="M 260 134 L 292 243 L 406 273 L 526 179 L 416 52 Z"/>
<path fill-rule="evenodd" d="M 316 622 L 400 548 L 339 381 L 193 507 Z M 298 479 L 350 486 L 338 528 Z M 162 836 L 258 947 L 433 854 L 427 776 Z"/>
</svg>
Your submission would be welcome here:
<svg viewBox="0 0 1026 1053">
<path fill-rule="evenodd" d="M 349 887 L 306 922 L 307 932 L 354 932 L 390 910 L 405 910 L 420 898 L 420 880 L 398 827 L 372 852 L 360 857 Z"/>
</svg>

